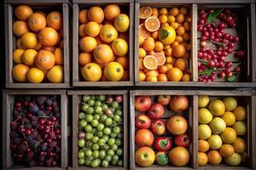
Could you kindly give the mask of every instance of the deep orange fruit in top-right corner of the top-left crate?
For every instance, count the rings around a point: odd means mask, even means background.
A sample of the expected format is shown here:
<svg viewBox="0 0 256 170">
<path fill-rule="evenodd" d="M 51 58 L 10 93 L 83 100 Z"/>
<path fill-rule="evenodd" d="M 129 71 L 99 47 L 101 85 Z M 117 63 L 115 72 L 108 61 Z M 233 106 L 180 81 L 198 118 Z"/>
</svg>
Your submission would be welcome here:
<svg viewBox="0 0 256 170">
<path fill-rule="evenodd" d="M 47 26 L 54 28 L 56 31 L 60 31 L 62 28 L 62 14 L 57 11 L 53 11 L 47 15 Z"/>
</svg>

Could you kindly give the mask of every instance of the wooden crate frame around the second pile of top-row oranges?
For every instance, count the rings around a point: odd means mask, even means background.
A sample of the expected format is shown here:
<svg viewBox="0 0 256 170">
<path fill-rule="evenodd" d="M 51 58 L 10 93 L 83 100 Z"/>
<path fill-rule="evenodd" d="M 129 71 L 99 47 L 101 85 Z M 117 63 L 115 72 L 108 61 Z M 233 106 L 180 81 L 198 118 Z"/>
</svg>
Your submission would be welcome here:
<svg viewBox="0 0 256 170">
<path fill-rule="evenodd" d="M 116 3 L 128 11 L 130 17 L 129 27 L 129 81 L 119 82 L 85 82 L 84 78 L 79 74 L 79 10 L 82 8 L 90 8 L 91 6 L 106 6 L 110 3 Z M 73 0 L 73 86 L 74 87 L 118 87 L 133 86 L 133 18 L 134 18 L 134 1 L 133 0 Z"/>
</svg>

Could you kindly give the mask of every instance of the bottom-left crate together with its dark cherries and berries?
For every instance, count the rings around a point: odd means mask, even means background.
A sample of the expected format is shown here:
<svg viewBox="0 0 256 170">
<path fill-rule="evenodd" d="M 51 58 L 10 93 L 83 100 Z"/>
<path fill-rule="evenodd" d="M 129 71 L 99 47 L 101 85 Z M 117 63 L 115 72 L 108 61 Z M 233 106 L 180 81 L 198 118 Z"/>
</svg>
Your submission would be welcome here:
<svg viewBox="0 0 256 170">
<path fill-rule="evenodd" d="M 32 169 L 35 167 L 38 169 L 61 169 L 67 167 L 67 96 L 65 94 L 66 91 L 3 91 L 4 169 Z M 47 96 L 49 101 L 45 100 L 45 96 Z M 42 100 L 43 97 L 44 99 Z M 26 106 L 26 104 L 30 104 L 27 101 L 32 102 L 32 105 L 38 106 Z M 53 106 L 53 104 L 58 106 Z M 49 105 L 51 108 L 48 108 Z M 33 111 L 35 110 L 39 110 L 39 112 L 34 113 Z M 20 116 L 22 117 L 19 118 Z M 29 118 L 30 116 L 32 116 L 31 119 Z M 56 120 L 54 120 L 54 116 Z M 31 136 L 34 131 L 38 132 L 36 137 Z M 49 138 L 49 135 L 53 135 L 53 137 Z M 53 141 L 56 142 L 56 145 Z M 44 142 L 47 143 L 44 144 L 47 145 L 46 148 L 43 147 Z M 48 146 L 50 143 L 55 145 L 52 149 Z M 27 153 L 36 157 L 36 163 L 31 164 L 32 167 L 28 167 L 28 164 L 26 164 L 29 154 L 21 151 L 21 145 L 22 150 L 30 148 L 32 153 Z M 44 155 L 44 160 L 40 160 L 43 157 L 40 154 L 45 154 L 43 152 L 46 153 L 46 156 Z M 56 156 L 54 156 L 54 153 Z M 53 159 L 48 154 L 53 154 Z M 19 161 L 19 155 L 21 156 L 21 161 Z M 50 161 L 51 165 L 54 162 L 53 160 L 55 160 L 56 165 L 54 167 L 47 167 L 46 159 L 49 159 L 48 161 Z M 32 161 L 29 162 L 31 163 Z M 43 165 L 40 162 L 44 162 Z"/>
</svg>

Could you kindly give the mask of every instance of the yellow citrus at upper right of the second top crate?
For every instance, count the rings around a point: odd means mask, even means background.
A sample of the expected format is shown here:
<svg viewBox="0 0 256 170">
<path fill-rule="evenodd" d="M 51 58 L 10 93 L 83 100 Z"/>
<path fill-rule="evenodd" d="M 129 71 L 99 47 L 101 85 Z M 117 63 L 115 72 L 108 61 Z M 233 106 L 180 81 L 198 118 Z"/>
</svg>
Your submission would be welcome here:
<svg viewBox="0 0 256 170">
<path fill-rule="evenodd" d="M 114 27 L 119 32 L 125 32 L 129 29 L 129 17 L 126 14 L 119 14 L 114 19 Z"/>
</svg>

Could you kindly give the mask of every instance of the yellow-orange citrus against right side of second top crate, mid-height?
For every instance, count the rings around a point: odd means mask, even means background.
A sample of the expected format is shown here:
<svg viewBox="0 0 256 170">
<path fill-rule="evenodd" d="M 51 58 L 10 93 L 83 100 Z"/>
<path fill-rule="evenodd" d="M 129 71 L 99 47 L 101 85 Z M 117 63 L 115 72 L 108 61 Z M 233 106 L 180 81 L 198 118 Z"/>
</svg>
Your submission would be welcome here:
<svg viewBox="0 0 256 170">
<path fill-rule="evenodd" d="M 128 44 L 122 38 L 113 40 L 112 45 L 113 53 L 118 56 L 124 56 L 128 52 Z"/>
</svg>

